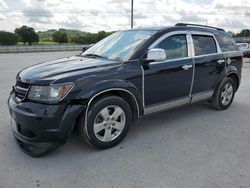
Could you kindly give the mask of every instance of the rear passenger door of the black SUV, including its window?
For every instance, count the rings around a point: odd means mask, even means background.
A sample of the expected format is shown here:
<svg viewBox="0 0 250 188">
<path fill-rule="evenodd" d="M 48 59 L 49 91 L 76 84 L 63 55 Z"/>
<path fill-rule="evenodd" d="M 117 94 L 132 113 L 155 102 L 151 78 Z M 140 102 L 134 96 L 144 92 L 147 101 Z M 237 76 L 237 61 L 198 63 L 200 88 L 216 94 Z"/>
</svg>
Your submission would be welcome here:
<svg viewBox="0 0 250 188">
<path fill-rule="evenodd" d="M 214 35 L 191 31 L 195 62 L 193 100 L 203 100 L 213 94 L 218 77 L 225 70 L 225 56 Z"/>
</svg>

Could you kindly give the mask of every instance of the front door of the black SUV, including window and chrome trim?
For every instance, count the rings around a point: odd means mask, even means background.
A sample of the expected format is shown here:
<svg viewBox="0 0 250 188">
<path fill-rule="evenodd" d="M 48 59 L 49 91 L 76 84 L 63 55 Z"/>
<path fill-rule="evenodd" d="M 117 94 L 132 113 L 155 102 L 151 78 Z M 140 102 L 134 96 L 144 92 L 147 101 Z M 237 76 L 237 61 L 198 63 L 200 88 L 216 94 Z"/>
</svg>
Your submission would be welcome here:
<svg viewBox="0 0 250 188">
<path fill-rule="evenodd" d="M 194 62 L 189 37 L 185 31 L 168 33 L 151 45 L 164 49 L 167 59 L 143 66 L 145 114 L 190 102 Z"/>
</svg>

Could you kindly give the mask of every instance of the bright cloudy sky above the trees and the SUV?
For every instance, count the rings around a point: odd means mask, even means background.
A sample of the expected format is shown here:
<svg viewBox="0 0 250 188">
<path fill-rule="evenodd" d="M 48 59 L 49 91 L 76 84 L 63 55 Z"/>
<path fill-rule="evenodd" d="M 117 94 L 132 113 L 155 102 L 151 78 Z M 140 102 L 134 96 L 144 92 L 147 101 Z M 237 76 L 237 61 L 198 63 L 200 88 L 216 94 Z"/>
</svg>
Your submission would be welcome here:
<svg viewBox="0 0 250 188">
<path fill-rule="evenodd" d="M 88 32 L 130 28 L 131 0 L 0 0 L 0 30 L 28 25 L 36 31 Z M 134 27 L 178 22 L 239 32 L 250 29 L 249 0 L 134 0 Z"/>
</svg>

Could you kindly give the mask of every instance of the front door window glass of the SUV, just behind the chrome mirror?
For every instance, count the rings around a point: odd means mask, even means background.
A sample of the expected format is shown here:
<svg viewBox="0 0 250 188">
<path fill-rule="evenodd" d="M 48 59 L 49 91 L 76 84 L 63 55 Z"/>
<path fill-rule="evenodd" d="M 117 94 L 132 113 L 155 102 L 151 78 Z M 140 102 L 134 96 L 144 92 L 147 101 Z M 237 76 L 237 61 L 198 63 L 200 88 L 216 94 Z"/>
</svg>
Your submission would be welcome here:
<svg viewBox="0 0 250 188">
<path fill-rule="evenodd" d="M 173 35 L 161 41 L 155 48 L 166 51 L 167 59 L 188 57 L 186 35 Z"/>
</svg>

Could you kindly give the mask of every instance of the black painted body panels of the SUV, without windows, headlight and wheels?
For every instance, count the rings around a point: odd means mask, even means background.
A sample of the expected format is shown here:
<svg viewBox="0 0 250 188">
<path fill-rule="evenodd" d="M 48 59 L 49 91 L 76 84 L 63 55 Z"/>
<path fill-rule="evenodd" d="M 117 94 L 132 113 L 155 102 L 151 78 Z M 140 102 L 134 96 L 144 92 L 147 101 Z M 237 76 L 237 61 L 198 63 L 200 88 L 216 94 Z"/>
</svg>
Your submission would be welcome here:
<svg viewBox="0 0 250 188">
<path fill-rule="evenodd" d="M 122 89 L 133 94 L 139 107 L 138 116 L 142 117 L 144 109 L 150 105 L 215 90 L 229 74 L 234 74 L 240 81 L 242 57 L 239 51 L 160 64 L 144 61 L 149 46 L 166 33 L 193 30 L 220 36 L 222 31 L 184 26 L 149 30 L 157 32 L 125 62 L 74 56 L 37 64 L 20 71 L 17 82 L 28 85 L 73 82 L 74 88 L 58 104 L 37 103 L 27 98 L 18 102 L 13 89 L 8 104 L 15 136 L 28 143 L 64 143 L 77 118 L 85 114 L 89 100 L 97 93 L 109 89 Z M 227 64 L 228 58 L 231 60 L 230 65 Z M 219 59 L 225 59 L 225 63 L 218 64 Z M 183 65 L 193 63 L 193 68 L 182 69 Z"/>
</svg>

